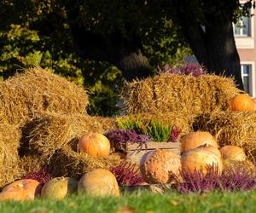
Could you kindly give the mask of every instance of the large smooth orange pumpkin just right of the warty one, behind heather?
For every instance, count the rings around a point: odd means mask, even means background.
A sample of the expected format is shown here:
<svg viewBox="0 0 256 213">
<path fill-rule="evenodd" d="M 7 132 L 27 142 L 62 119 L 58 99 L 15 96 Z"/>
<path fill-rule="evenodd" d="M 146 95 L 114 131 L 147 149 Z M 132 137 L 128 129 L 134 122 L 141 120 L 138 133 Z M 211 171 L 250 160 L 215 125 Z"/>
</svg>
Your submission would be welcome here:
<svg viewBox="0 0 256 213">
<path fill-rule="evenodd" d="M 218 173 L 223 170 L 222 159 L 211 151 L 201 148 L 188 150 L 181 156 L 182 171 L 193 173 L 195 170 L 202 170 L 207 175 L 207 165 L 218 166 Z"/>
</svg>

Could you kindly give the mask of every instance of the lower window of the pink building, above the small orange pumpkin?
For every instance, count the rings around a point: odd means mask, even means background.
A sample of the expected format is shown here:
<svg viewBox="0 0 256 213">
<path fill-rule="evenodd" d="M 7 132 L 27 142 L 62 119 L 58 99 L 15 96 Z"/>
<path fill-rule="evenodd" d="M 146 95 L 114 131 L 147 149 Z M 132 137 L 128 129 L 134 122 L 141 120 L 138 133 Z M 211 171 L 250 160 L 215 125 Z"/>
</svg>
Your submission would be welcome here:
<svg viewBox="0 0 256 213">
<path fill-rule="evenodd" d="M 252 65 L 243 64 L 241 65 L 241 78 L 245 92 L 253 96 L 253 73 Z"/>
</svg>

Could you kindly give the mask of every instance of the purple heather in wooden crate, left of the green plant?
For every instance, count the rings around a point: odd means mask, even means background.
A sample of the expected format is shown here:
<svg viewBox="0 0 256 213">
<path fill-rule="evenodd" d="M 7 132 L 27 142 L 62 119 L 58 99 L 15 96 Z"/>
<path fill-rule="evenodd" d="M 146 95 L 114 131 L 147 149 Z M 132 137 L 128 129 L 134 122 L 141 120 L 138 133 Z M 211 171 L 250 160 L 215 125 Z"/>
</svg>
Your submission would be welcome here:
<svg viewBox="0 0 256 213">
<path fill-rule="evenodd" d="M 108 140 L 113 142 L 113 144 L 119 144 L 121 148 L 123 148 L 127 142 L 137 143 L 138 151 L 142 150 L 143 146 L 147 148 L 147 142 L 152 141 L 148 135 L 137 134 L 135 130 L 110 130 L 106 134 L 106 137 L 108 137 Z"/>
</svg>

